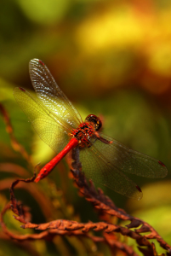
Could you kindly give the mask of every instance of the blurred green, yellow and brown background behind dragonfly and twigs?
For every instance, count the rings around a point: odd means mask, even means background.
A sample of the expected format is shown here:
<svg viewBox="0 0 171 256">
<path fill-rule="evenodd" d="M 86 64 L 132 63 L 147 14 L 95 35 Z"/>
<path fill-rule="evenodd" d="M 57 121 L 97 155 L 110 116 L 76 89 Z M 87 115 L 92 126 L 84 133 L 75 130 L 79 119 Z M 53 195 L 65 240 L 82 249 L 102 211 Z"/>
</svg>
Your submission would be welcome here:
<svg viewBox="0 0 171 256">
<path fill-rule="evenodd" d="M 28 72 L 32 58 L 46 63 L 83 119 L 89 113 L 100 115 L 106 134 L 165 163 L 168 177 L 164 179 L 132 177 L 143 190 L 141 201 L 131 201 L 102 189 L 117 207 L 149 222 L 171 243 L 170 24 L 170 0 L 0 2 L 0 102 L 9 112 L 15 136 L 31 154 L 35 165 L 45 164 L 54 153 L 32 131 L 13 96 L 15 86 L 32 90 Z M 11 148 L 2 118 L 0 135 L 1 164 L 15 163 L 28 170 L 26 160 Z M 2 183 L 9 177 L 18 177 L 13 171 L 5 172 L 2 166 L 0 171 Z M 31 171 L 27 177 L 31 177 Z M 93 207 L 77 195 L 77 189 L 68 178 L 65 161 L 50 177 L 63 190 L 61 195 L 52 188 L 51 191 L 46 181 L 35 186 L 58 202 L 58 207 L 54 203 L 53 218 L 98 221 Z M 9 201 L 9 187 L 0 188 L 0 192 L 0 207 L 3 208 Z M 24 189 L 22 193 L 19 189 L 16 195 L 31 207 L 33 222 L 53 219 L 43 216 L 37 201 Z M 20 224 L 11 216 L 6 217 L 9 228 L 22 234 Z M 31 253 L 26 253 L 24 246 L 9 241 L 3 233 L 0 233 L 0 244 L 0 255 Z M 88 242 L 85 246 L 85 242 L 71 238 L 31 242 L 30 247 L 35 255 L 110 255 L 106 246 L 96 247 Z"/>
</svg>

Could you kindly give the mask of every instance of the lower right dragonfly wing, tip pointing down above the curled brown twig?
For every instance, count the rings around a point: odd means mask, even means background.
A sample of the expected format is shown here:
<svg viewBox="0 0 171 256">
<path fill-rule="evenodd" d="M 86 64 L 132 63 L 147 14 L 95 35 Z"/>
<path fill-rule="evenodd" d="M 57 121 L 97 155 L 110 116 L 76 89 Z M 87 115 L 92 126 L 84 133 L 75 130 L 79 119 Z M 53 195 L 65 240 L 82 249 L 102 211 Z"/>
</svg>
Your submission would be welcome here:
<svg viewBox="0 0 171 256">
<path fill-rule="evenodd" d="M 113 166 L 94 145 L 90 148 L 80 148 L 80 161 L 86 177 L 95 183 L 136 200 L 142 198 L 140 188 L 119 171 L 117 166 Z"/>
</svg>

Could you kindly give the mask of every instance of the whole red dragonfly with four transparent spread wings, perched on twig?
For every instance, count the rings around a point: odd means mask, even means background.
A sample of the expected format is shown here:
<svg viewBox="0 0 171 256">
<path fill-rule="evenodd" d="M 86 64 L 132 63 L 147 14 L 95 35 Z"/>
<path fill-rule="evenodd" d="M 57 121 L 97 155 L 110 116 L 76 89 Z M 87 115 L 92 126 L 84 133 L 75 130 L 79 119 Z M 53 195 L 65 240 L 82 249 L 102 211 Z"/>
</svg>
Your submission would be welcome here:
<svg viewBox="0 0 171 256">
<path fill-rule="evenodd" d="M 89 114 L 83 122 L 43 61 L 31 60 L 29 70 L 37 98 L 18 87 L 14 88 L 14 97 L 39 137 L 57 153 L 41 169 L 36 183 L 75 147 L 79 149 L 79 159 L 86 177 L 136 200 L 142 198 L 142 191 L 123 172 L 142 177 L 167 175 L 167 168 L 160 160 L 127 148 L 101 133 L 101 120 L 94 114 Z"/>
</svg>

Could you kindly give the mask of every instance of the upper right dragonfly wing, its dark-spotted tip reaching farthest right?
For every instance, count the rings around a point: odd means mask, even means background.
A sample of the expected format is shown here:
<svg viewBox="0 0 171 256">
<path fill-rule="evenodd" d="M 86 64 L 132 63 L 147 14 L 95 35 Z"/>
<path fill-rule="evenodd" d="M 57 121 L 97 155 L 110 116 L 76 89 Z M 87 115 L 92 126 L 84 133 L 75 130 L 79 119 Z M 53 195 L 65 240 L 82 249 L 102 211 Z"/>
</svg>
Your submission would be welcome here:
<svg viewBox="0 0 171 256">
<path fill-rule="evenodd" d="M 95 147 L 105 156 L 105 159 L 111 162 L 112 166 L 117 166 L 118 170 L 141 177 L 154 178 L 167 175 L 168 170 L 160 160 L 134 151 L 105 134 L 100 133 L 100 136 L 112 143 L 105 144 L 101 143 L 100 140 L 96 140 Z"/>
</svg>

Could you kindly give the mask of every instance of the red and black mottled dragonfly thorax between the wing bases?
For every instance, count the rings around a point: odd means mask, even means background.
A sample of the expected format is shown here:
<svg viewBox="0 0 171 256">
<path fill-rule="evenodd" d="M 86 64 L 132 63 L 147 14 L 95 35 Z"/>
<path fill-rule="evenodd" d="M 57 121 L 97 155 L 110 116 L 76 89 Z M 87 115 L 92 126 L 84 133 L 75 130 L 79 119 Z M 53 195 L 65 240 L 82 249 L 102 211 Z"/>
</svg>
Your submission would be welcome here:
<svg viewBox="0 0 171 256">
<path fill-rule="evenodd" d="M 89 146 L 89 138 L 93 135 L 94 131 L 94 125 L 84 122 L 77 129 L 73 129 L 71 135 L 77 138 L 79 147 L 83 148 Z"/>
</svg>

